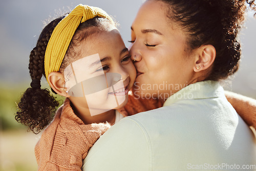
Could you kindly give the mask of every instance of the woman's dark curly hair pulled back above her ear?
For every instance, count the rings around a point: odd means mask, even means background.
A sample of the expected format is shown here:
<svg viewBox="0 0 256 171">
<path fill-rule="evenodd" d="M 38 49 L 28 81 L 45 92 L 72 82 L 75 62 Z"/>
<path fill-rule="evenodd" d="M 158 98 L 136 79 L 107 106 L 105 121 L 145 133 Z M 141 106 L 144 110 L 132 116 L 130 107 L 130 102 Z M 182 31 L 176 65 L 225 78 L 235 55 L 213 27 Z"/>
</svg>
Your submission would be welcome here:
<svg viewBox="0 0 256 171">
<path fill-rule="evenodd" d="M 156 0 L 167 6 L 167 17 L 188 34 L 188 48 L 202 45 L 216 49 L 216 59 L 206 80 L 220 80 L 239 68 L 241 55 L 237 39 L 246 3 L 256 10 L 255 0 Z"/>
</svg>

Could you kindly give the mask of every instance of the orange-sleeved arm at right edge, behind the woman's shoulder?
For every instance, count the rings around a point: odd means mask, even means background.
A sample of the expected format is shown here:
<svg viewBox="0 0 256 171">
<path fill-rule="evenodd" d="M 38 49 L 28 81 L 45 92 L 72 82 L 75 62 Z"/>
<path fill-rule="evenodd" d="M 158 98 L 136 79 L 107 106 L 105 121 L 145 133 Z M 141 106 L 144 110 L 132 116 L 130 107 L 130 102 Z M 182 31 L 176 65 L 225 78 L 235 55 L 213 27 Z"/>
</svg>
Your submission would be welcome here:
<svg viewBox="0 0 256 171">
<path fill-rule="evenodd" d="M 256 129 L 256 100 L 229 91 L 225 91 L 225 95 L 246 124 Z"/>
</svg>

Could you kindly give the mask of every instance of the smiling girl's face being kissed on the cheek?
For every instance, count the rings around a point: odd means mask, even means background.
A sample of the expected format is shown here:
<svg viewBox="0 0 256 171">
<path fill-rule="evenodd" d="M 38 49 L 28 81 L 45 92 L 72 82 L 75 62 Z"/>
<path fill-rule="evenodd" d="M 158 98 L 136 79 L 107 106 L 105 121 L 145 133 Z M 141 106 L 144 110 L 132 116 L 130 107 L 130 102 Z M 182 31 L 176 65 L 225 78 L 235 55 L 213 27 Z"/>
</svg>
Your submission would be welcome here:
<svg viewBox="0 0 256 171">
<path fill-rule="evenodd" d="M 81 58 L 64 71 L 71 101 L 89 108 L 91 115 L 124 106 L 136 70 L 118 30 L 95 33 L 78 50 Z"/>
</svg>

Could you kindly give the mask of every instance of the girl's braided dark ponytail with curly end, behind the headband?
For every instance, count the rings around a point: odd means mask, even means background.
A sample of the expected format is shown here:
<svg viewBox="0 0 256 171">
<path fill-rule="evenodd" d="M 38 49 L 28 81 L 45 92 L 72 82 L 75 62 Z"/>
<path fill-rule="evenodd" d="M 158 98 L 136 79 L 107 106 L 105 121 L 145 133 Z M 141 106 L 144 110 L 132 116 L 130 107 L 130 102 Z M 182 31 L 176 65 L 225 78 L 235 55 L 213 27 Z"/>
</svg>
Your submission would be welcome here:
<svg viewBox="0 0 256 171">
<path fill-rule="evenodd" d="M 28 125 L 37 134 L 49 124 L 59 105 L 48 89 L 41 89 L 40 79 L 45 76 L 45 52 L 51 34 L 64 16 L 54 19 L 41 32 L 36 47 L 30 53 L 29 72 L 32 79 L 28 88 L 18 103 L 15 119 Z"/>
</svg>

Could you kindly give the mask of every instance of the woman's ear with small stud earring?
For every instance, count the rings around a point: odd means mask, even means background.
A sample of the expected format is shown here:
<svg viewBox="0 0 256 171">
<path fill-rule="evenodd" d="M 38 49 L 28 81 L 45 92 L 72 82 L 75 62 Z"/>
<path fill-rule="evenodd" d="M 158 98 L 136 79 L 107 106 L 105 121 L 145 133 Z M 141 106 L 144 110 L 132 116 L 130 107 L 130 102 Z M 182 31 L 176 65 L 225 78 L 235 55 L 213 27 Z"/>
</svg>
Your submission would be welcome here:
<svg viewBox="0 0 256 171">
<path fill-rule="evenodd" d="M 216 49 L 212 45 L 204 45 L 198 48 L 198 58 L 194 66 L 195 72 L 200 72 L 208 69 L 214 63 L 216 57 Z"/>
</svg>

